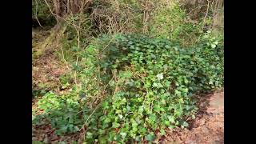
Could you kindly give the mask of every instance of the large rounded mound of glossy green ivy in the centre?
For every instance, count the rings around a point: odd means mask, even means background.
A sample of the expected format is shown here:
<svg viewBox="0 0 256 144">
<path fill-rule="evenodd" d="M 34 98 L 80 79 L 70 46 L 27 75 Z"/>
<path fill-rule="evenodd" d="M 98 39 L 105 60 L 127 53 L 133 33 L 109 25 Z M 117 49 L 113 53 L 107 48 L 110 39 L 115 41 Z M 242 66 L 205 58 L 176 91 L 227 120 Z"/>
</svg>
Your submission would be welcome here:
<svg viewBox="0 0 256 144">
<path fill-rule="evenodd" d="M 186 127 L 197 110 L 192 96 L 223 84 L 223 47 L 209 36 L 185 49 L 163 39 L 119 34 L 99 38 L 82 57 L 76 95 L 84 96 L 84 111 L 72 126 L 84 126 L 89 143 L 153 141 L 166 128 Z"/>
</svg>

